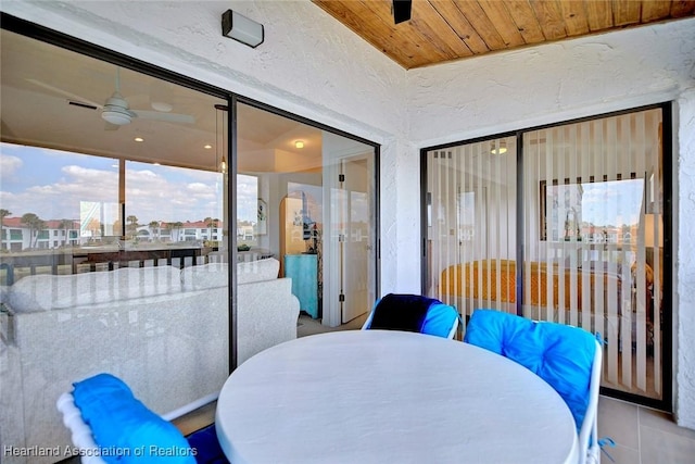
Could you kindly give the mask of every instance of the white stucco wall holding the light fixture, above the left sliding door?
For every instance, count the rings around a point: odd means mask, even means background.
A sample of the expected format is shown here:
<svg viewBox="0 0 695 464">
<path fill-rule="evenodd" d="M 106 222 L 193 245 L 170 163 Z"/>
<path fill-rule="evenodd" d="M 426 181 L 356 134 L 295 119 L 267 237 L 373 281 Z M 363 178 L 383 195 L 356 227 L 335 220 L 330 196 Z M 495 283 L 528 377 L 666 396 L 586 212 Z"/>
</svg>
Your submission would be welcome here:
<svg viewBox="0 0 695 464">
<path fill-rule="evenodd" d="M 401 198 L 416 193 L 400 180 L 410 168 L 401 156 L 413 152 L 404 139 L 406 73 L 318 7 L 308 0 L 3 0 L 0 9 L 382 145 L 381 288 L 419 289 L 419 261 L 399 265 L 401 227 L 394 226 L 399 203 L 407 209 L 419 201 Z M 222 36 L 228 9 L 264 25 L 258 48 Z"/>
</svg>

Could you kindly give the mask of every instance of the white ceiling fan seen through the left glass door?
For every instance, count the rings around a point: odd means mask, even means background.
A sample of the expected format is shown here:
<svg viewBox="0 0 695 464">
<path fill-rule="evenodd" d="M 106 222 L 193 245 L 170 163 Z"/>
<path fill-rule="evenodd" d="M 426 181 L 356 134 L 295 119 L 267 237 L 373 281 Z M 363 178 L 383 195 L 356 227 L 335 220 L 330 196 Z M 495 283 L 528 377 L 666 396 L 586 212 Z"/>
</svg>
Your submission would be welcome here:
<svg viewBox="0 0 695 464">
<path fill-rule="evenodd" d="M 105 128 L 108 130 L 115 130 L 119 126 L 130 124 L 136 117 L 142 117 L 144 120 L 165 121 L 169 123 L 195 123 L 195 118 L 189 114 L 130 109 L 128 101 L 125 99 L 125 97 L 123 97 L 123 95 L 121 95 L 121 70 L 118 67 L 116 67 L 116 83 L 114 92 L 106 99 L 103 104 L 96 103 L 78 95 L 68 92 L 58 87 L 53 87 L 40 80 L 31 78 L 27 78 L 26 80 L 39 87 L 43 87 L 45 89 L 51 90 L 55 93 L 67 97 L 70 104 L 92 110 L 101 110 L 101 117 L 106 122 Z M 157 108 L 170 109 L 170 105 L 160 103 Z"/>
</svg>

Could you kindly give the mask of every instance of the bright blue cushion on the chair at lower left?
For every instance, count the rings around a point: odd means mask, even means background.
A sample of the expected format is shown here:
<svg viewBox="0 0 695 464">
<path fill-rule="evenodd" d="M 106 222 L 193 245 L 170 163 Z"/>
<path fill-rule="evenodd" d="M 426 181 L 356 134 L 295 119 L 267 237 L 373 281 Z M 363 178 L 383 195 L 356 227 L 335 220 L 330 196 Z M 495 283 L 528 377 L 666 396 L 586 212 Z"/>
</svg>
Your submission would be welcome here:
<svg viewBox="0 0 695 464">
<path fill-rule="evenodd" d="M 195 463 L 174 426 L 137 400 L 123 380 L 98 374 L 73 384 L 75 405 L 108 463 Z"/>
</svg>

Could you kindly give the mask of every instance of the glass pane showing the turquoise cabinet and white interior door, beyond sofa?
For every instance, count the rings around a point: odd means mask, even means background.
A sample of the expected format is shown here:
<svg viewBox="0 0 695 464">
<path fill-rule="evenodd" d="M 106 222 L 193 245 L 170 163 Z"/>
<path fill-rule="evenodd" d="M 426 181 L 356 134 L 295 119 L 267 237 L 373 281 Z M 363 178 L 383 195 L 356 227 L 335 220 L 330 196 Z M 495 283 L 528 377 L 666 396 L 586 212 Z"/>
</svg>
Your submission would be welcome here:
<svg viewBox="0 0 695 464">
<path fill-rule="evenodd" d="M 238 255 L 280 262 L 300 325 L 366 317 L 377 285 L 375 147 L 244 103 L 237 121 Z"/>
</svg>

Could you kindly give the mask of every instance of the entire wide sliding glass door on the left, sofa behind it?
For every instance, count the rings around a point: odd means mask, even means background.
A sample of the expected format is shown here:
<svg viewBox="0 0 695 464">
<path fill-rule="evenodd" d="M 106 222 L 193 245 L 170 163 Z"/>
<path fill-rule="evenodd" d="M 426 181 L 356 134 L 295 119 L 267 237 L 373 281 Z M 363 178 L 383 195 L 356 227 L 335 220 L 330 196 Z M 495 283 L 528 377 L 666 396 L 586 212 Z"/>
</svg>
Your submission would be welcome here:
<svg viewBox="0 0 695 464">
<path fill-rule="evenodd" d="M 101 372 L 167 419 L 214 401 L 298 335 L 292 293 L 366 317 L 375 143 L 22 20 L 0 46 L 3 446 L 67 449 L 55 402 Z"/>
</svg>

